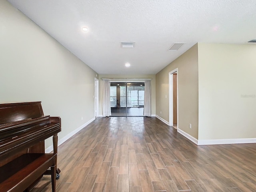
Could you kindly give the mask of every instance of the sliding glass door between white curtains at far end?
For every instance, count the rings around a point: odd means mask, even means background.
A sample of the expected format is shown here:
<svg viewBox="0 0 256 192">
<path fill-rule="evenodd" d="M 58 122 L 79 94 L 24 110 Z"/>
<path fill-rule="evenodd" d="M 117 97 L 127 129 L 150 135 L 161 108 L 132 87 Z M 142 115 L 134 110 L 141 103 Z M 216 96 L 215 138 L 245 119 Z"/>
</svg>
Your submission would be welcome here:
<svg viewBox="0 0 256 192">
<path fill-rule="evenodd" d="M 110 83 L 112 116 L 143 116 L 144 83 Z"/>
</svg>

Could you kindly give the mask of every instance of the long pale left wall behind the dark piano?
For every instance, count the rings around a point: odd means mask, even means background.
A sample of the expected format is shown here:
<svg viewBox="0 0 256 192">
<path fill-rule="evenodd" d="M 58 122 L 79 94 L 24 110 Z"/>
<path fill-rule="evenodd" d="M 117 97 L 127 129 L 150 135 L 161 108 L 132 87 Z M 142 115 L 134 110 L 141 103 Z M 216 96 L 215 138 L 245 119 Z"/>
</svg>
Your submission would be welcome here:
<svg viewBox="0 0 256 192">
<path fill-rule="evenodd" d="M 5 0 L 0 24 L 0 102 L 42 101 L 59 139 L 94 118 L 96 72 Z"/>
</svg>

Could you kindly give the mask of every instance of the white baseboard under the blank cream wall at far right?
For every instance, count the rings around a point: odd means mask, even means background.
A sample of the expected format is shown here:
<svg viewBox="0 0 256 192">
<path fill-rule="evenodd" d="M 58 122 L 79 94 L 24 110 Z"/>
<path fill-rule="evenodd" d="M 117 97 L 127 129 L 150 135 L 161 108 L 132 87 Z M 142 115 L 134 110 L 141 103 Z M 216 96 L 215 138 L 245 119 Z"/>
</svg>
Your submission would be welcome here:
<svg viewBox="0 0 256 192">
<path fill-rule="evenodd" d="M 198 140 L 198 145 L 221 145 L 221 144 L 242 144 L 242 143 L 256 143 L 256 138 Z"/>
</svg>

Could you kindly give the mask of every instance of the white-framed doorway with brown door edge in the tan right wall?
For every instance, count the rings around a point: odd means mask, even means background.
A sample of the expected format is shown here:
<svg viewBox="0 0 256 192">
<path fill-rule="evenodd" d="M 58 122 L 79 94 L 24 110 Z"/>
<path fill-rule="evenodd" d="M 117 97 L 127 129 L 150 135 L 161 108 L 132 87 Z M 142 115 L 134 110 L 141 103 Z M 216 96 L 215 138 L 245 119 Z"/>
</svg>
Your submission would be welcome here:
<svg viewBox="0 0 256 192">
<path fill-rule="evenodd" d="M 169 72 L 169 126 L 178 128 L 178 68 Z"/>
</svg>

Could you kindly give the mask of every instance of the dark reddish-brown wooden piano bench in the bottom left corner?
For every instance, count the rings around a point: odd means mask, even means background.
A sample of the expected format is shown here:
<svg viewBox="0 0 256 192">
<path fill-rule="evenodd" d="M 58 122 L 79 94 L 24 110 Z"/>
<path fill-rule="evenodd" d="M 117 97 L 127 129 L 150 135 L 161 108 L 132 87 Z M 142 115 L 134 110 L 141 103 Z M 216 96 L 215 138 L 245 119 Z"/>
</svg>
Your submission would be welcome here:
<svg viewBox="0 0 256 192">
<path fill-rule="evenodd" d="M 28 191 L 28 187 L 49 167 L 52 192 L 55 192 L 56 157 L 53 153 L 27 153 L 0 167 L 0 192 Z"/>
</svg>

